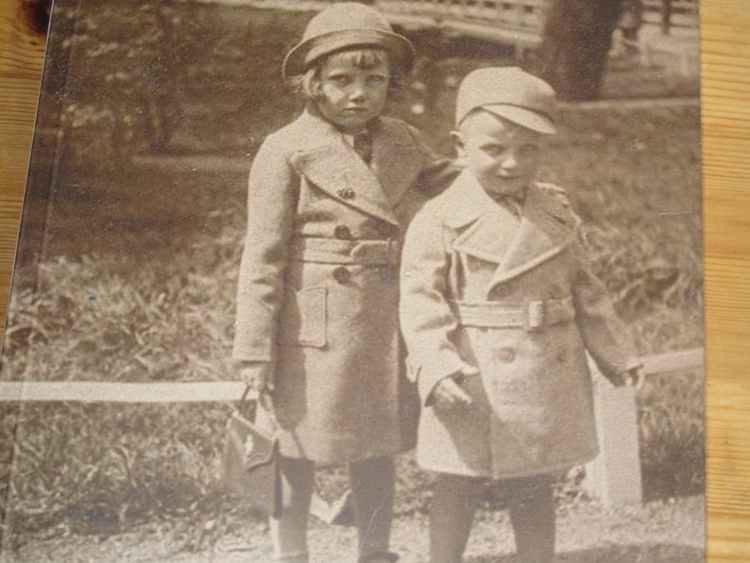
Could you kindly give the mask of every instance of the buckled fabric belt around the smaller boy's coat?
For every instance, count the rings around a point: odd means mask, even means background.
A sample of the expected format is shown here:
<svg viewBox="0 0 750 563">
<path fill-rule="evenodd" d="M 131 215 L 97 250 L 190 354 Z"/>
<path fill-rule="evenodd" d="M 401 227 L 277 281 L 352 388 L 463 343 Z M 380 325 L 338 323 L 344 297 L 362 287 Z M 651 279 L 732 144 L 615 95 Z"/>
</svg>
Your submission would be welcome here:
<svg viewBox="0 0 750 563">
<path fill-rule="evenodd" d="M 450 305 L 460 326 L 480 328 L 523 327 L 533 330 L 572 321 L 575 317 L 572 297 L 523 304 L 451 301 Z"/>
</svg>

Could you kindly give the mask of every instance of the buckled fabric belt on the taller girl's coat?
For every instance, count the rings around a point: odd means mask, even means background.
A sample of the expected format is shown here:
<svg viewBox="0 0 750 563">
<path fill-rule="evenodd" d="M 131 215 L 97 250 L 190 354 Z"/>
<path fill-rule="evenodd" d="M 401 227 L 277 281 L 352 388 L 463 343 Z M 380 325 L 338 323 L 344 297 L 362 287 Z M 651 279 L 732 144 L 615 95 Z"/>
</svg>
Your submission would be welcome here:
<svg viewBox="0 0 750 563">
<path fill-rule="evenodd" d="M 296 237 L 292 239 L 291 259 L 323 264 L 359 264 L 395 266 L 399 263 L 401 245 L 396 239 L 339 240 Z"/>
</svg>

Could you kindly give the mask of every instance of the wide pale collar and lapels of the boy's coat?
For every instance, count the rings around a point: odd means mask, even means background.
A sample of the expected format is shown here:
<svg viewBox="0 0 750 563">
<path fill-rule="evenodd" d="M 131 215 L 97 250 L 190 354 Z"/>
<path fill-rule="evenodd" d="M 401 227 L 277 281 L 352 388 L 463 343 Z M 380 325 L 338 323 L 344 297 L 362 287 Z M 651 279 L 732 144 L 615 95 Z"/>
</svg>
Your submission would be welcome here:
<svg viewBox="0 0 750 563">
<path fill-rule="evenodd" d="M 488 293 L 495 285 L 555 256 L 575 240 L 575 215 L 544 184 L 529 187 L 520 221 L 494 202 L 468 171 L 445 193 L 445 204 L 450 217 L 448 226 L 463 230 L 456 237 L 454 248 L 497 264 Z"/>
</svg>

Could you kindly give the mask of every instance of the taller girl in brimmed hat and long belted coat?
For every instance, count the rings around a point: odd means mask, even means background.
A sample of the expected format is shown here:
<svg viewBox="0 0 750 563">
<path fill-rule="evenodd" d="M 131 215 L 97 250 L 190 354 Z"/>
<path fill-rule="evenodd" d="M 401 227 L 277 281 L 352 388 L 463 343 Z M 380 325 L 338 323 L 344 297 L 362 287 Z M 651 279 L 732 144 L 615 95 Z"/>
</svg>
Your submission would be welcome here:
<svg viewBox="0 0 750 563">
<path fill-rule="evenodd" d="M 392 456 L 413 445 L 398 331 L 402 234 L 455 176 L 413 128 L 381 117 L 413 50 L 374 9 L 320 12 L 287 55 L 304 113 L 268 136 L 249 179 L 234 358 L 279 425 L 278 561 L 308 560 L 315 463 L 348 462 L 359 561 L 389 551 Z"/>
</svg>

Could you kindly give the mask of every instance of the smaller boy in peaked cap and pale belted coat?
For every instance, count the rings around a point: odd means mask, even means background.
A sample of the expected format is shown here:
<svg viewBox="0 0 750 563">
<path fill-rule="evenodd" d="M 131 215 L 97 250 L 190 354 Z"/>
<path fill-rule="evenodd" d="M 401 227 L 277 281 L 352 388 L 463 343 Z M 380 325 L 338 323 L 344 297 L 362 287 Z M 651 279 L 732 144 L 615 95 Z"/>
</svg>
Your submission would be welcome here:
<svg viewBox="0 0 750 563">
<path fill-rule="evenodd" d="M 481 485 L 504 491 L 524 563 L 552 561 L 553 476 L 597 454 L 586 351 L 616 385 L 640 363 L 594 277 L 580 220 L 536 181 L 555 95 L 518 68 L 470 73 L 452 135 L 465 169 L 414 218 L 401 326 L 438 472 L 431 563 L 458 563 Z"/>
</svg>

